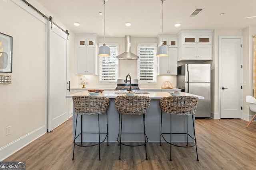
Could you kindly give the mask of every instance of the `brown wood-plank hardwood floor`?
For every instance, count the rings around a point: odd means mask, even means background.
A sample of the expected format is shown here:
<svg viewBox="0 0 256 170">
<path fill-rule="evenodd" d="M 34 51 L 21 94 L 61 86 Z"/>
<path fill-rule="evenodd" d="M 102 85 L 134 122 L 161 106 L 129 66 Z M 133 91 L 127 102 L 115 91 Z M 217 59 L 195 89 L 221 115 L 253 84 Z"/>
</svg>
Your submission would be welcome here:
<svg viewBox="0 0 256 170">
<path fill-rule="evenodd" d="M 144 147 L 122 147 L 119 158 L 117 143 L 98 146 L 76 147 L 72 161 L 72 119 L 53 133 L 47 133 L 4 161 L 26 161 L 27 170 L 253 170 L 256 169 L 256 122 L 248 128 L 241 119 L 196 119 L 196 149 L 148 143 L 148 160 Z"/>
</svg>

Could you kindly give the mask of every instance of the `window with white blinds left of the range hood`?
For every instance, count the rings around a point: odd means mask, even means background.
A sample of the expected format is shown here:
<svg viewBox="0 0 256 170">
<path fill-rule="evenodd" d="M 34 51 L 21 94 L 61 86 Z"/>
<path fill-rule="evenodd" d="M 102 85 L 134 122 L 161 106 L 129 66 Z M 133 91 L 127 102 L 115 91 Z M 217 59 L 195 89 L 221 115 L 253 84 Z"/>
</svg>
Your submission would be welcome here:
<svg viewBox="0 0 256 170">
<path fill-rule="evenodd" d="M 103 43 L 99 43 L 99 46 Z M 118 78 L 118 44 L 106 44 L 110 48 L 110 56 L 99 56 L 99 83 L 116 83 Z"/>
</svg>

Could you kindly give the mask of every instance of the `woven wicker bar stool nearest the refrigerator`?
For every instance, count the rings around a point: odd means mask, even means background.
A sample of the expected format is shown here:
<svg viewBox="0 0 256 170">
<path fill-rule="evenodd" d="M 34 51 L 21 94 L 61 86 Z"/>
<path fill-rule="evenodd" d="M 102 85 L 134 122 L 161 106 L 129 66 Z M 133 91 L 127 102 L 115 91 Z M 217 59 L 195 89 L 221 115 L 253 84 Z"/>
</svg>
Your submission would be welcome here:
<svg viewBox="0 0 256 170">
<path fill-rule="evenodd" d="M 170 160 L 172 160 L 172 145 L 176 147 L 194 147 L 196 146 L 196 134 L 195 134 L 195 125 L 194 125 L 194 114 L 196 113 L 196 107 L 198 104 L 198 97 L 194 96 L 168 96 L 161 98 L 159 100 L 159 106 L 161 108 L 161 127 L 160 127 L 160 146 L 162 146 L 162 137 L 164 141 L 165 134 L 170 134 Z M 162 133 L 162 111 L 170 113 L 170 133 Z M 186 133 L 172 133 L 172 114 L 176 115 L 186 115 Z M 188 115 L 192 115 L 193 122 L 193 136 L 188 134 Z M 176 145 L 172 143 L 172 134 L 185 134 L 186 135 L 186 146 Z M 193 141 L 193 144 L 188 145 L 188 137 Z M 198 160 L 197 147 L 196 147 L 196 157 Z"/>
</svg>

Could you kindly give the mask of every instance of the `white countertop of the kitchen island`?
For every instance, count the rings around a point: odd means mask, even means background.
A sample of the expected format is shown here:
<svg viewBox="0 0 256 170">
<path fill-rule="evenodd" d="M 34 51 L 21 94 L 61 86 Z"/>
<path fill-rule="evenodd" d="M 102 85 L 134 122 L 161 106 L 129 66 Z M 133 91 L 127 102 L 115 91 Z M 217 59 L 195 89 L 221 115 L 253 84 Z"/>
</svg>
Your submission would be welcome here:
<svg viewBox="0 0 256 170">
<path fill-rule="evenodd" d="M 141 92 L 137 92 L 137 93 L 141 93 Z M 169 92 L 148 92 L 149 94 L 136 94 L 135 95 L 139 95 L 139 96 L 149 96 L 151 99 L 160 99 L 160 98 L 164 98 L 164 97 L 168 97 L 171 96 Z M 78 93 L 74 93 L 74 94 L 70 94 L 68 96 L 66 96 L 66 98 L 72 98 L 72 96 L 89 96 L 89 92 L 88 91 L 82 91 L 82 92 L 78 92 Z M 115 91 L 104 91 L 103 93 L 100 93 L 99 96 L 104 96 L 107 98 L 116 98 L 116 96 L 120 96 L 120 95 L 126 95 L 126 94 L 117 94 L 115 93 Z M 194 94 L 189 94 L 189 93 L 185 93 L 185 92 L 180 92 L 180 96 L 196 96 L 199 99 L 204 99 L 203 96 L 197 96 Z"/>
</svg>

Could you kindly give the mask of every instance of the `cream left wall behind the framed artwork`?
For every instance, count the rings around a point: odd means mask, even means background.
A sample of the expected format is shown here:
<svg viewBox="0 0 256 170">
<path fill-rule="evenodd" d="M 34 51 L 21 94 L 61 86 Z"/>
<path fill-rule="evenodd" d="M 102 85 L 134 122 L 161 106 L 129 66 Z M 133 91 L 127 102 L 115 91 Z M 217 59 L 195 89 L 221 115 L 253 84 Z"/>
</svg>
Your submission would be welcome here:
<svg viewBox="0 0 256 170">
<path fill-rule="evenodd" d="M 1 32 L 13 37 L 12 84 L 0 85 L 0 147 L 45 122 L 45 27 L 12 1 L 0 1 Z M 15 11 L 15 15 L 13 12 Z M 6 127 L 11 134 L 6 136 Z"/>
</svg>

